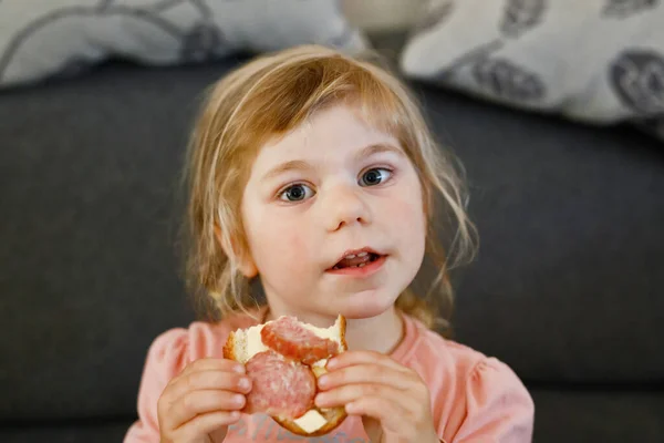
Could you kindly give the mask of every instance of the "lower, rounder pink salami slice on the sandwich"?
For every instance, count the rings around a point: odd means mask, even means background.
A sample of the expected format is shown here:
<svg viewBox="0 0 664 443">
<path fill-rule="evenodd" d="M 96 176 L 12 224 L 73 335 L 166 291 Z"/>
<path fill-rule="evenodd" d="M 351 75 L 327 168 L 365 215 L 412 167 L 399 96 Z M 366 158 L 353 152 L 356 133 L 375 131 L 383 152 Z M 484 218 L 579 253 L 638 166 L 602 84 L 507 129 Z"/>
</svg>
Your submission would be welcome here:
<svg viewBox="0 0 664 443">
<path fill-rule="evenodd" d="M 293 420 L 313 408 L 315 378 L 308 367 L 263 351 L 249 359 L 246 368 L 252 381 L 247 413 L 264 412 Z"/>
</svg>

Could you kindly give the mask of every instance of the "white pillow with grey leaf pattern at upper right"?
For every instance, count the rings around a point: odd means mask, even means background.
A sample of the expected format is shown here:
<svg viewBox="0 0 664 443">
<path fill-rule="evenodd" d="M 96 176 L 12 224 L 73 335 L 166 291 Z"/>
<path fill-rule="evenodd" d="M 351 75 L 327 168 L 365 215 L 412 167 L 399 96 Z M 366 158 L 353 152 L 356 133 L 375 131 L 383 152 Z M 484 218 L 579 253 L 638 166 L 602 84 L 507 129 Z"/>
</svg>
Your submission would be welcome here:
<svg viewBox="0 0 664 443">
<path fill-rule="evenodd" d="M 664 138 L 664 0 L 428 0 L 406 75 Z"/>
</svg>

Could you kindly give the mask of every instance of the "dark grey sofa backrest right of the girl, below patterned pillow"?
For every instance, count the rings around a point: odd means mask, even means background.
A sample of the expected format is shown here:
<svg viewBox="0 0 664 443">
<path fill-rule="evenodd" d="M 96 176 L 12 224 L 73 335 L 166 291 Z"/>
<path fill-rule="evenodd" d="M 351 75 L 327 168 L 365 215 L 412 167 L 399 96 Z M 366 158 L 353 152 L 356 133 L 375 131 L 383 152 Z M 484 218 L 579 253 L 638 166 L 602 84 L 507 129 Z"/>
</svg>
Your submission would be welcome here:
<svg viewBox="0 0 664 443">
<path fill-rule="evenodd" d="M 419 92 L 480 235 L 457 272 L 457 338 L 531 381 L 664 380 L 661 144 Z"/>
</svg>

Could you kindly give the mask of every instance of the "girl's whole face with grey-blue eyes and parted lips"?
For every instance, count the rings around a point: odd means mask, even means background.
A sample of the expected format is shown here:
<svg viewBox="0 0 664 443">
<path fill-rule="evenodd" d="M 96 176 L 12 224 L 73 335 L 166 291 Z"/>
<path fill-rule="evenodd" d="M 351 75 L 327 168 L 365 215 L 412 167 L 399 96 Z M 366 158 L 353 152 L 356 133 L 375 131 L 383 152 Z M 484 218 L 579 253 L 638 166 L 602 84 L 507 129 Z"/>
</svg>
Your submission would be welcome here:
<svg viewBox="0 0 664 443">
<path fill-rule="evenodd" d="M 242 218 L 250 267 L 280 315 L 375 317 L 393 307 L 424 258 L 415 168 L 393 136 L 342 105 L 260 150 Z M 333 269 L 362 248 L 385 257 L 362 275 Z"/>
</svg>

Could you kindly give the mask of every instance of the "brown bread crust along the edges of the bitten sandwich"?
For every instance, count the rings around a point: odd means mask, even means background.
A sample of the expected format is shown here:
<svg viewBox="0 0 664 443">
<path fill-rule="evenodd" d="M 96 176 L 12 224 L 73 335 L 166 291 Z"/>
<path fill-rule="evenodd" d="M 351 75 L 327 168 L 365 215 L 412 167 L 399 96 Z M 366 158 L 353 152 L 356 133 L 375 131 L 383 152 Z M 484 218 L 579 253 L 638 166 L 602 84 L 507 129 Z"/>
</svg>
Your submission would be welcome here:
<svg viewBox="0 0 664 443">
<path fill-rule="evenodd" d="M 339 326 L 339 331 L 340 331 L 340 336 L 341 336 L 340 337 L 340 339 L 341 339 L 340 353 L 344 352 L 349 349 L 347 343 L 345 341 L 345 328 L 346 328 L 345 318 L 343 316 L 340 316 L 340 326 Z M 228 339 L 226 339 L 226 343 L 224 344 L 224 358 L 228 359 L 228 360 L 239 361 L 238 354 L 236 351 L 236 332 L 230 332 L 230 334 L 228 336 Z M 317 368 L 317 369 L 318 370 L 312 370 L 312 372 L 317 379 L 319 377 L 321 377 L 323 373 L 328 372 L 324 368 Z M 319 392 L 318 385 L 315 388 L 315 392 L 317 393 Z M 312 409 L 318 411 L 326 420 L 326 423 L 321 429 L 319 429 L 314 432 L 305 432 L 303 429 L 298 426 L 294 423 L 294 421 L 292 421 L 291 419 L 284 419 L 284 418 L 280 418 L 280 416 L 273 416 L 273 415 L 272 415 L 272 419 L 280 426 L 287 429 L 288 431 L 290 431 L 291 433 L 293 433 L 295 435 L 320 436 L 320 435 L 325 435 L 326 433 L 334 430 L 347 416 L 345 409 L 343 406 L 336 406 L 336 408 L 331 408 L 331 409 L 325 409 L 325 410 L 320 410 L 319 408 L 315 408 L 315 406 Z"/>
</svg>

